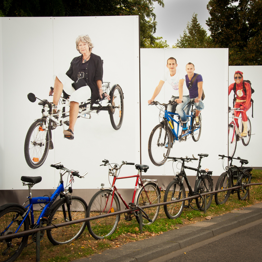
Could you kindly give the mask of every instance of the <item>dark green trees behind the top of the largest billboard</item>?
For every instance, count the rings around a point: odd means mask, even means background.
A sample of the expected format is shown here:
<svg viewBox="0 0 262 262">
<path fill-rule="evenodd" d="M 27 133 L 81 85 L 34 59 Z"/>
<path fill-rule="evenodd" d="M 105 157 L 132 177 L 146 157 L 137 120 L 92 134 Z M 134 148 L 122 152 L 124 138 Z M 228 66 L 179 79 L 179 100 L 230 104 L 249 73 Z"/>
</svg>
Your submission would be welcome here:
<svg viewBox="0 0 262 262">
<path fill-rule="evenodd" d="M 140 47 L 154 46 L 159 39 L 153 4 L 164 7 L 163 0 L 3 0 L 0 16 L 106 16 L 139 15 Z"/>
</svg>

